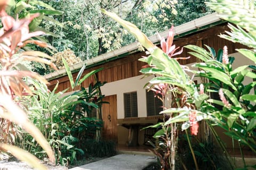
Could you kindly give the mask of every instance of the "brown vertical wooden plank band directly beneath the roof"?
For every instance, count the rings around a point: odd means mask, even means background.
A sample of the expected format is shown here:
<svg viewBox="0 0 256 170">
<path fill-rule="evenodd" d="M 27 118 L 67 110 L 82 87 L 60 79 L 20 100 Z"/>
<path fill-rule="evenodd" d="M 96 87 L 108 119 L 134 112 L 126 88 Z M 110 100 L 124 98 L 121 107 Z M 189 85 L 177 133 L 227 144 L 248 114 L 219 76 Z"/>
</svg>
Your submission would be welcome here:
<svg viewBox="0 0 256 170">
<path fill-rule="evenodd" d="M 203 45 L 206 44 L 210 47 L 213 47 L 216 50 L 216 52 L 218 51 L 218 49 L 223 48 L 223 46 L 226 45 L 228 47 L 229 54 L 235 53 L 236 48 L 245 48 L 243 45 L 235 44 L 235 43 L 232 43 L 231 41 L 220 38 L 218 35 L 220 35 L 221 33 L 225 33 L 225 30 L 229 30 L 226 24 L 218 25 L 210 29 L 198 32 L 194 35 L 189 35 L 186 37 L 176 39 L 174 40 L 174 44 L 176 47 L 183 47 L 189 44 L 204 47 Z M 183 48 L 183 53 L 175 57 L 188 57 L 189 56 L 188 52 L 189 52 L 188 49 Z M 87 69 L 84 71 L 83 75 L 85 75 L 86 73 L 89 73 L 92 70 L 103 67 L 104 69 L 98 73 L 98 79 L 102 82 L 103 81 L 113 82 L 117 80 L 135 77 L 137 75 L 141 75 L 139 71 L 143 65 L 146 65 L 146 63 L 142 63 L 138 61 L 138 59 L 141 56 L 146 56 L 146 54 L 142 52 L 138 52 L 133 55 L 126 56 L 124 58 L 119 58 L 115 61 L 110 61 L 105 64 Z M 179 60 L 180 64 L 183 64 L 183 65 L 194 63 L 196 61 L 197 61 L 196 58 L 193 56 L 191 56 L 188 60 Z M 77 76 L 77 73 L 74 73 L 73 77 L 76 78 L 76 76 Z M 59 81 L 59 86 L 57 91 L 62 91 L 70 87 L 68 77 L 65 76 L 55 80 L 51 80 L 50 86 L 49 86 L 50 90 L 54 88 L 57 81 Z M 82 86 L 88 87 L 89 84 L 93 81 L 94 81 L 93 77 L 90 77 L 89 79 L 83 82 Z M 80 87 L 78 87 L 77 90 L 79 88 Z M 68 91 L 72 91 L 72 90 L 69 88 Z"/>
</svg>

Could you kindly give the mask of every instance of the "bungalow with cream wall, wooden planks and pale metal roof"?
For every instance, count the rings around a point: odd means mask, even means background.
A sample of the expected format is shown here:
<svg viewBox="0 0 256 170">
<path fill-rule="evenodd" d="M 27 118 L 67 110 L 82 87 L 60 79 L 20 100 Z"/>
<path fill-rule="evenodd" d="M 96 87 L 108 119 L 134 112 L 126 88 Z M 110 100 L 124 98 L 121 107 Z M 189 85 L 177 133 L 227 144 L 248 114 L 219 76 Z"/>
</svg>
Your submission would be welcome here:
<svg viewBox="0 0 256 170">
<path fill-rule="evenodd" d="M 242 45 L 218 36 L 225 33 L 228 27 L 227 22 L 220 20 L 217 13 L 179 25 L 174 30 L 174 44 L 177 47 L 189 44 L 203 47 L 206 44 L 218 50 L 226 45 L 229 54 L 237 58 L 235 65 L 249 62 L 246 57 L 235 51 L 236 48 L 244 48 Z M 166 38 L 168 32 L 169 30 L 166 30 L 160 35 Z M 158 36 L 154 35 L 149 38 L 153 43 L 159 44 Z M 188 49 L 184 48 L 180 57 L 187 57 L 187 52 Z M 146 142 L 146 135 L 145 131 L 139 129 L 156 123 L 159 119 L 159 102 L 154 98 L 154 95 L 143 88 L 151 78 L 141 79 L 143 76 L 139 71 L 143 65 L 146 65 L 146 63 L 138 61 L 141 56 L 146 56 L 146 54 L 139 52 L 137 43 L 133 43 L 71 66 L 74 78 L 84 64 L 86 64 L 87 69 L 83 74 L 103 67 L 97 77 L 101 82 L 107 81 L 101 90 L 102 94 L 106 96 L 104 100 L 110 103 L 102 107 L 102 117 L 105 122 L 103 138 L 116 141 L 119 145 L 143 145 Z M 195 62 L 197 62 L 195 57 L 180 61 L 183 65 L 190 65 Z M 45 78 L 50 82 L 50 90 L 54 88 L 57 81 L 59 81 L 57 91 L 70 87 L 65 70 L 47 74 Z M 92 80 L 93 78 L 87 79 L 82 86 L 88 87 Z M 198 83 L 201 82 L 198 78 L 195 80 Z M 231 143 L 231 140 L 227 139 L 225 142 Z"/>
</svg>

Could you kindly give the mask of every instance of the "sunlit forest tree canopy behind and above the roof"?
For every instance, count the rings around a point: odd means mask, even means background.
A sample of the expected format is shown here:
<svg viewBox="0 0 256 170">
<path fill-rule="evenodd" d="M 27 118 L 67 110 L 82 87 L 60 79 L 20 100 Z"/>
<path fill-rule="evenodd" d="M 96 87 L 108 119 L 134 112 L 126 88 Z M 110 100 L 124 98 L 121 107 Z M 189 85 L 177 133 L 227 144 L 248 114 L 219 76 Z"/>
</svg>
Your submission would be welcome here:
<svg viewBox="0 0 256 170">
<path fill-rule="evenodd" d="M 117 13 L 147 36 L 209 14 L 203 0 L 11 0 L 13 15 L 41 10 L 34 29 L 58 52 L 71 49 L 82 60 L 98 56 L 135 41 L 119 24 L 100 12 Z M 55 10 L 55 11 L 53 11 Z M 60 13 L 62 11 L 62 13 Z M 52 12 L 52 13 L 49 13 Z M 48 14 L 48 15 L 47 15 Z M 68 57 L 68 56 L 67 56 Z M 42 71 L 42 70 L 41 70 Z"/>
</svg>

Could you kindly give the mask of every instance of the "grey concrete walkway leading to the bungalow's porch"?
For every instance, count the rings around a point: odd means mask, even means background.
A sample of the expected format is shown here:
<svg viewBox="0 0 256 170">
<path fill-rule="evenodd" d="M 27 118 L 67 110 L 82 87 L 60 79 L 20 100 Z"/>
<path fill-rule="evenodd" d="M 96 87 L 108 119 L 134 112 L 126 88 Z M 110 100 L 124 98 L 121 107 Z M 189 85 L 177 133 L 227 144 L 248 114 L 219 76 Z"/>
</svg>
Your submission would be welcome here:
<svg viewBox="0 0 256 170">
<path fill-rule="evenodd" d="M 74 167 L 71 170 L 141 170 L 155 162 L 157 162 L 157 159 L 154 156 L 120 154 L 94 163 Z"/>
</svg>

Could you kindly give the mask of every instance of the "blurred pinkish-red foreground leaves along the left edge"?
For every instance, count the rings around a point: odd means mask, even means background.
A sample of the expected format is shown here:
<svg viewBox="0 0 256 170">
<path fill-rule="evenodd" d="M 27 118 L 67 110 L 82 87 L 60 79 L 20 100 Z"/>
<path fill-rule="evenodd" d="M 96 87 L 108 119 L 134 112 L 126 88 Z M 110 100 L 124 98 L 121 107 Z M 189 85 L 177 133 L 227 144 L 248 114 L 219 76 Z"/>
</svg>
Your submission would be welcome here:
<svg viewBox="0 0 256 170">
<path fill-rule="evenodd" d="M 34 140 L 38 142 L 45 150 L 49 160 L 55 162 L 54 154 L 45 140 L 42 133 L 36 128 L 36 126 L 31 123 L 26 112 L 22 109 L 19 104 L 19 98 L 25 95 L 25 92 L 32 95 L 32 92 L 27 83 L 23 81 L 23 78 L 30 77 L 34 80 L 38 80 L 44 83 L 47 81 L 40 77 L 37 73 L 22 70 L 22 65 L 20 62 L 22 60 L 36 61 L 45 64 L 49 64 L 55 67 L 49 60 L 50 56 L 42 52 L 22 52 L 20 49 L 25 47 L 27 44 L 34 43 L 42 47 L 49 47 L 47 44 L 38 41 L 30 40 L 31 37 L 42 35 L 42 31 L 29 32 L 29 23 L 38 16 L 38 14 L 30 15 L 26 19 L 15 20 L 11 16 L 7 15 L 5 12 L 6 1 L 0 1 L 0 16 L 3 24 L 1 28 L 1 92 L 0 92 L 0 105 L 1 105 L 1 120 L 3 124 L 6 124 L 6 131 L 1 134 L 1 144 L 0 148 L 2 151 L 11 152 L 17 158 L 27 161 L 33 167 L 38 169 L 45 169 L 45 167 L 38 163 L 38 159 L 28 154 L 26 151 L 14 147 L 8 142 L 7 138 L 9 134 L 13 134 L 15 137 L 15 132 L 11 127 L 13 124 L 21 126 L 25 131 L 33 135 Z M 19 25 L 17 27 L 17 25 Z M 3 125 L 2 124 L 2 125 Z"/>
</svg>

